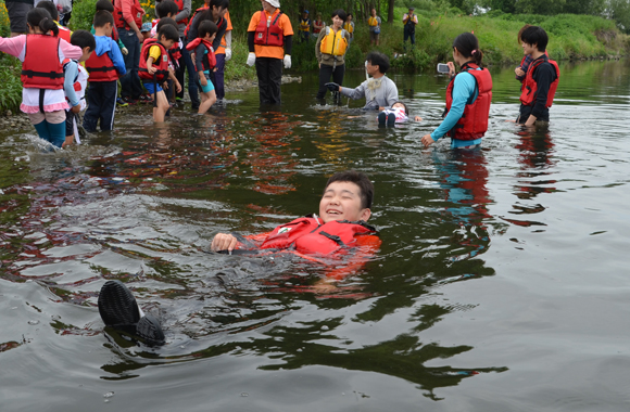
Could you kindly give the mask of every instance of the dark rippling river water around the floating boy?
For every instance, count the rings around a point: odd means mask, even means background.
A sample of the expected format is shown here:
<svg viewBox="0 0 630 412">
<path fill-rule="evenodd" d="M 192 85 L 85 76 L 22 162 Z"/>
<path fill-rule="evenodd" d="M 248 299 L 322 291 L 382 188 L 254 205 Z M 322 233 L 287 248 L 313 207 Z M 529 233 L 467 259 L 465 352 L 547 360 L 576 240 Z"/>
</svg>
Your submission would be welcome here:
<svg viewBox="0 0 630 412">
<path fill-rule="evenodd" d="M 318 106 L 316 74 L 205 116 L 123 111 L 113 134 L 42 154 L 0 140 L 2 411 L 622 411 L 630 405 L 630 62 L 562 66 L 527 131 L 494 69 L 482 150 L 423 149 L 446 79 L 393 74 L 423 123 Z M 345 83 L 358 85 L 351 72 Z M 207 253 L 317 211 L 332 172 L 375 182 L 363 268 Z M 104 333 L 121 279 L 167 345 Z"/>
</svg>

